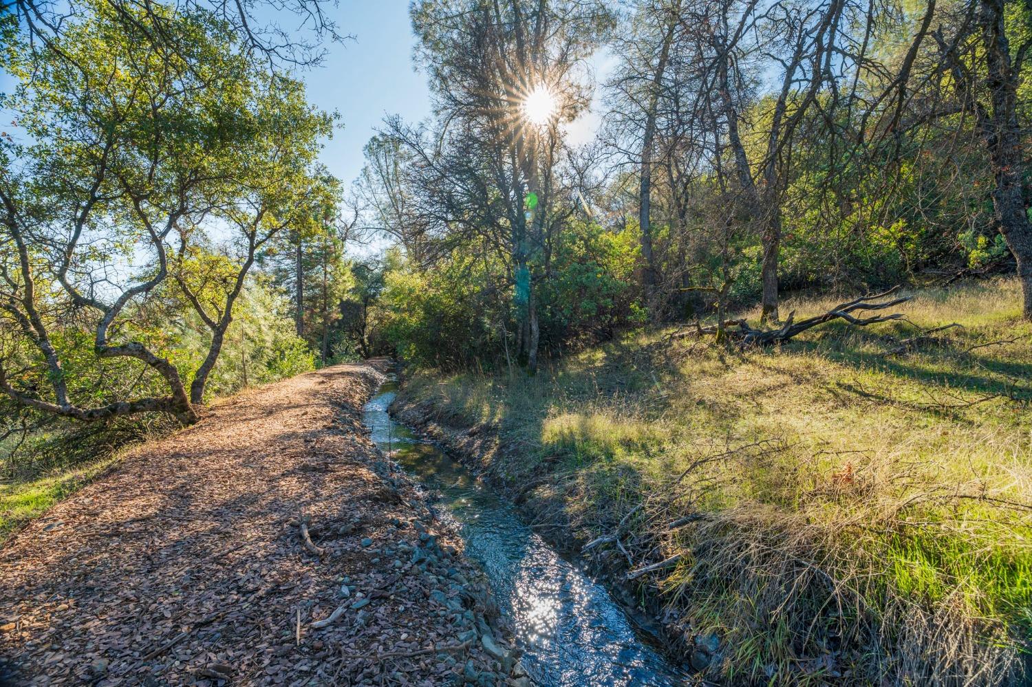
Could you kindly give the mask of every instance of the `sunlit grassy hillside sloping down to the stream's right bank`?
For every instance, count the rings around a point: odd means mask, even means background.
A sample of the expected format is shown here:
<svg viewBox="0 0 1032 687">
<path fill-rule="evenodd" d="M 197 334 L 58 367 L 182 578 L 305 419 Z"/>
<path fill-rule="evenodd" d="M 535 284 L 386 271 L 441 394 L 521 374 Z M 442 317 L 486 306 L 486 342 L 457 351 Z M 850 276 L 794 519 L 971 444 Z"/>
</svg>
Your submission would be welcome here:
<svg viewBox="0 0 1032 687">
<path fill-rule="evenodd" d="M 922 291 L 899 308 L 908 322 L 832 323 L 744 353 L 639 332 L 534 379 L 425 373 L 407 394 L 496 431 L 495 477 L 552 476 L 536 498 L 584 541 L 618 534 L 626 553 L 595 550 L 613 565 L 679 555 L 637 581 L 670 606 L 686 653 L 716 633 L 713 675 L 1004 683 L 1032 635 L 1020 302 L 1010 281 Z"/>
</svg>

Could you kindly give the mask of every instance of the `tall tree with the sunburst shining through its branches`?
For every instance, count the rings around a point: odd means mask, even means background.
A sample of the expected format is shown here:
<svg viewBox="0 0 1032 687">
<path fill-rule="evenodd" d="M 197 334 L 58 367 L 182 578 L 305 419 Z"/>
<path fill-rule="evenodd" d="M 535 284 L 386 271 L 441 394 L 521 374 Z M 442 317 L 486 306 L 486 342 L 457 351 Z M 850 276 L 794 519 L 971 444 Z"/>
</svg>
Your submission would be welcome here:
<svg viewBox="0 0 1032 687">
<path fill-rule="evenodd" d="M 449 0 L 412 8 L 417 59 L 439 117 L 425 131 L 394 122 L 413 153 L 427 215 L 452 230 L 488 237 L 508 263 L 517 312 L 517 351 L 533 373 L 540 323 L 536 282 L 548 279 L 557 226 L 560 124 L 587 105 L 578 71 L 608 29 L 602 3 Z M 529 114 L 529 102 L 539 112 Z"/>
</svg>

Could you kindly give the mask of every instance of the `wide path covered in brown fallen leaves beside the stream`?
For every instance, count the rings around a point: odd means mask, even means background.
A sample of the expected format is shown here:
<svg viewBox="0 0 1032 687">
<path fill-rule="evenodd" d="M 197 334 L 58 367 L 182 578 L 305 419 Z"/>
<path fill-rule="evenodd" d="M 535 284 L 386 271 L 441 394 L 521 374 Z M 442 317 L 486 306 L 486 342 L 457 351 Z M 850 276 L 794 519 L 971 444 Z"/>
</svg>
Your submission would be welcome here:
<svg viewBox="0 0 1032 687">
<path fill-rule="evenodd" d="M 12 536 L 8 681 L 504 684 L 486 587 L 364 435 L 381 380 L 342 365 L 241 393 Z"/>
</svg>

